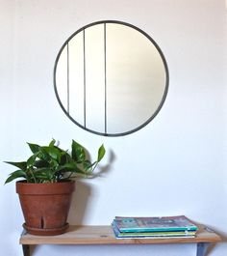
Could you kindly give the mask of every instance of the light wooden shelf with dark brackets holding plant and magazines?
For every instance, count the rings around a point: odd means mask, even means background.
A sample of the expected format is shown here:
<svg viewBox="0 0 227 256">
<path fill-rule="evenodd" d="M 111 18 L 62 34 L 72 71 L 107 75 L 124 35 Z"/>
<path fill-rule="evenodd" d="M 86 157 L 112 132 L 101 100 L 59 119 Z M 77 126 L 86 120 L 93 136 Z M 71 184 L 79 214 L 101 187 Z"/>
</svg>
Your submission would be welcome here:
<svg viewBox="0 0 227 256">
<path fill-rule="evenodd" d="M 111 226 L 70 226 L 59 236 L 34 236 L 23 232 L 20 238 L 24 256 L 30 256 L 30 246 L 38 244 L 161 244 L 197 243 L 196 256 L 205 256 L 211 243 L 221 242 L 219 235 L 199 225 L 195 238 L 115 239 Z"/>
</svg>

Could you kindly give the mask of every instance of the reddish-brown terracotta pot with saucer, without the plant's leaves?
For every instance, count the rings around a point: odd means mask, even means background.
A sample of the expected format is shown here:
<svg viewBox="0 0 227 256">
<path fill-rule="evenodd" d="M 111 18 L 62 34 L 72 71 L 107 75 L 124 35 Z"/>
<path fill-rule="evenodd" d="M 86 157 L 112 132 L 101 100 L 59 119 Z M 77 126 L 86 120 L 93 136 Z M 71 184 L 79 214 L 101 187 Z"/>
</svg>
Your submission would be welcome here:
<svg viewBox="0 0 227 256">
<path fill-rule="evenodd" d="M 24 214 L 23 227 L 33 235 L 54 236 L 63 234 L 75 182 L 56 184 L 16 183 L 20 205 Z"/>
</svg>

